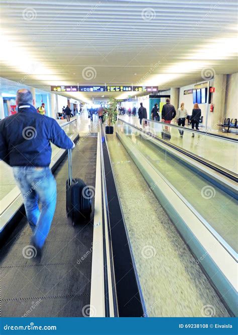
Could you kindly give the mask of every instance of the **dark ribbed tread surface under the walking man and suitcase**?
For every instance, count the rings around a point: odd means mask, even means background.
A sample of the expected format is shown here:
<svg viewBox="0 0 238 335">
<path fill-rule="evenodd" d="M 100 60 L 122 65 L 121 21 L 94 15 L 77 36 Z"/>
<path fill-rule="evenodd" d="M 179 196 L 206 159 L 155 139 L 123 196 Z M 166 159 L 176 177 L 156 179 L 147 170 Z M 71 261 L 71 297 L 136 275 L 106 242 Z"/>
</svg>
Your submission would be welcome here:
<svg viewBox="0 0 238 335">
<path fill-rule="evenodd" d="M 76 144 L 73 177 L 95 187 L 96 138 Z M 57 205 L 41 259 L 23 257 L 31 229 L 24 217 L 1 250 L 1 305 L 4 317 L 89 316 L 93 212 L 84 224 L 66 217 L 67 156 L 57 171 Z M 83 259 L 81 259 L 83 258 Z M 86 306 L 86 307 L 85 307 Z"/>
</svg>

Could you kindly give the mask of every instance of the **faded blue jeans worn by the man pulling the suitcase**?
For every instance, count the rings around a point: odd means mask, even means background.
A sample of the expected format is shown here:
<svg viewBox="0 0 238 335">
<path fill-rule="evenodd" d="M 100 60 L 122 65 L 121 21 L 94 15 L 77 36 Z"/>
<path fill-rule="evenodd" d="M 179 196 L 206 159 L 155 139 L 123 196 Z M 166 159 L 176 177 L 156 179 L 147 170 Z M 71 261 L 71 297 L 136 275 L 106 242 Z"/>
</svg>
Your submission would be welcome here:
<svg viewBox="0 0 238 335">
<path fill-rule="evenodd" d="M 33 231 L 31 242 L 37 248 L 42 248 L 55 212 L 57 194 L 55 178 L 49 167 L 15 166 L 13 172 Z"/>
</svg>

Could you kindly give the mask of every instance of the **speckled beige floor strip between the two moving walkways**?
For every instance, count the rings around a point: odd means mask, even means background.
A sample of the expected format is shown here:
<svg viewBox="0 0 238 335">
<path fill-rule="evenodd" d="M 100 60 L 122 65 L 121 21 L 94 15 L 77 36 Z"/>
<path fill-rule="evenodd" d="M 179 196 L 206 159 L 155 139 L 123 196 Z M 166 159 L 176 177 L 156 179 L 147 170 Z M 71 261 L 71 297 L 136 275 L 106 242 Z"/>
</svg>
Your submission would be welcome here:
<svg viewBox="0 0 238 335">
<path fill-rule="evenodd" d="M 113 173 L 149 316 L 229 316 L 210 280 L 122 143 L 107 136 Z"/>
</svg>

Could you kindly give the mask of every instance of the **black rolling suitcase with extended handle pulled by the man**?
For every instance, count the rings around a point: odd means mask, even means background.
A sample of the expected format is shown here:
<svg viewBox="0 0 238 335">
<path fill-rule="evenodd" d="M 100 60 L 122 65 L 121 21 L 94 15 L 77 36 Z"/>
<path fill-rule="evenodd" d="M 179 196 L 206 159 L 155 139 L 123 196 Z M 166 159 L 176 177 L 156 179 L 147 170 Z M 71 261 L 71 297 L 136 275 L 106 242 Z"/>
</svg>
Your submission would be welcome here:
<svg viewBox="0 0 238 335">
<path fill-rule="evenodd" d="M 69 179 L 66 182 L 66 213 L 72 224 L 89 219 L 92 207 L 90 190 L 82 179 L 72 178 L 72 149 L 68 150 Z"/>
</svg>

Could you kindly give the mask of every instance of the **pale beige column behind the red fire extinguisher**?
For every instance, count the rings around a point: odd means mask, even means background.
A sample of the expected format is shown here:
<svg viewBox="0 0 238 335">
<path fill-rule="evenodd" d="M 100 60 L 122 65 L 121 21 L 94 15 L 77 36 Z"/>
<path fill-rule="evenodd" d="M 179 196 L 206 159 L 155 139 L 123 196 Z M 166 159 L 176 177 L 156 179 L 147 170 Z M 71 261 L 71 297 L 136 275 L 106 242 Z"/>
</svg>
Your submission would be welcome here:
<svg viewBox="0 0 238 335">
<path fill-rule="evenodd" d="M 214 77 L 213 86 L 215 92 L 212 93 L 211 103 L 214 104 L 214 111 L 208 111 L 208 128 L 211 130 L 220 130 L 217 123 L 222 123 L 224 120 L 225 111 L 225 95 L 226 95 L 226 74 L 216 74 Z"/>
</svg>

